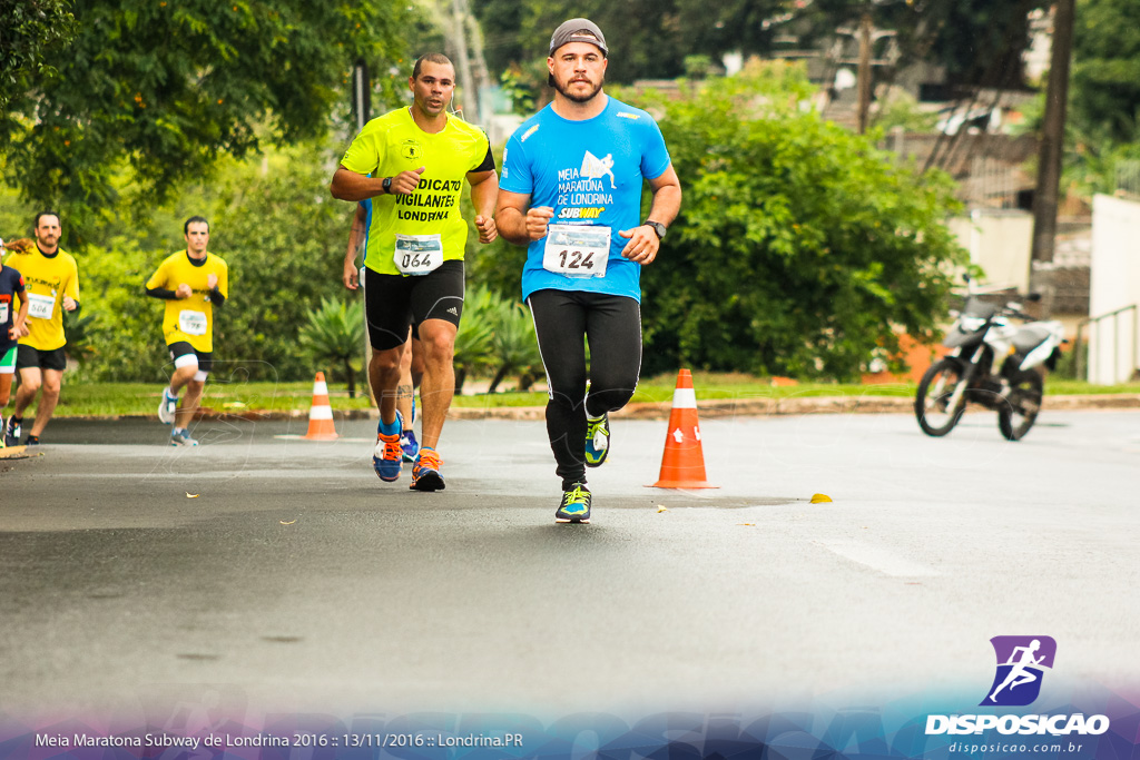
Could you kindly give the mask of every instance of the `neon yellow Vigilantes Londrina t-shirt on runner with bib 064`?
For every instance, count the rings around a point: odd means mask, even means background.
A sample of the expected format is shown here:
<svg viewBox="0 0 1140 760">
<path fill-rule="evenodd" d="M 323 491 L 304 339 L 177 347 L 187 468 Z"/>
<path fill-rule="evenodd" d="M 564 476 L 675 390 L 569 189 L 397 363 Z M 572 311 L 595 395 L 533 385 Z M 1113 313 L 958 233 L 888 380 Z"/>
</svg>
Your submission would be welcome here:
<svg viewBox="0 0 1140 760">
<path fill-rule="evenodd" d="M 399 275 L 397 259 L 440 251 L 441 261 L 463 259 L 467 223 L 459 215 L 459 193 L 467 172 L 487 157 L 487 136 L 478 126 L 448 116 L 442 131 L 420 129 L 407 108 L 368 122 L 352 140 L 341 165 L 359 174 L 394 177 L 424 166 L 412 195 L 372 198 L 365 237 L 365 265 L 381 275 Z"/>
</svg>

